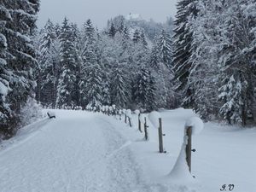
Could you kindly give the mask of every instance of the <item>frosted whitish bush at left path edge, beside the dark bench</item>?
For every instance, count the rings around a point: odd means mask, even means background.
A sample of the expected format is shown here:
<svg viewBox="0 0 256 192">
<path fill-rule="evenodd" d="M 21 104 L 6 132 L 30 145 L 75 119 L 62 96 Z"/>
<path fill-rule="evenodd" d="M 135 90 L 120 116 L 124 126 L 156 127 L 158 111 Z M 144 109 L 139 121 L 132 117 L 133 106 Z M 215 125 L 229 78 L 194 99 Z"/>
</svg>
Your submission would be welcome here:
<svg viewBox="0 0 256 192">
<path fill-rule="evenodd" d="M 41 106 L 35 99 L 29 97 L 20 111 L 20 125 L 28 125 L 41 118 L 43 118 Z"/>
</svg>

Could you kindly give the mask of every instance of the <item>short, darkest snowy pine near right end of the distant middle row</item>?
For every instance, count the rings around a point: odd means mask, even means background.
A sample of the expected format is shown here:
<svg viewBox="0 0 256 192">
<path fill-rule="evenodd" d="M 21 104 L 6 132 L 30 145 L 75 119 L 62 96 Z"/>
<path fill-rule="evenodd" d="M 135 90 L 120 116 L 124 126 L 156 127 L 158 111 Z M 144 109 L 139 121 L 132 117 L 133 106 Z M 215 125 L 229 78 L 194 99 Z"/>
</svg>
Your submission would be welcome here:
<svg viewBox="0 0 256 192">
<path fill-rule="evenodd" d="M 155 108 L 155 79 L 150 70 L 142 67 L 132 88 L 133 101 L 137 106 L 152 111 Z"/>
</svg>

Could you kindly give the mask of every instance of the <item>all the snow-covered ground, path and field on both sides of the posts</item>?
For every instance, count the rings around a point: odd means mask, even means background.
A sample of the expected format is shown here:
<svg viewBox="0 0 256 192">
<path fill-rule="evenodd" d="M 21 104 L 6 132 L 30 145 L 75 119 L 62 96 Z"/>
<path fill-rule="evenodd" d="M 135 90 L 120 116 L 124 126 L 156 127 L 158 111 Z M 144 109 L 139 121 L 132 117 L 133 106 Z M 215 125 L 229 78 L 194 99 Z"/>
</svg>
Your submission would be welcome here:
<svg viewBox="0 0 256 192">
<path fill-rule="evenodd" d="M 182 108 L 161 111 L 164 148 L 158 153 L 158 131 L 150 125 L 149 141 L 132 125 L 114 117 L 84 111 L 53 110 L 56 119 L 26 126 L 0 144 L 0 192 L 216 192 L 256 191 L 256 130 L 207 123 L 192 138 L 192 175 L 170 175 L 183 143 Z M 229 188 L 226 189 L 229 191 Z"/>
</svg>

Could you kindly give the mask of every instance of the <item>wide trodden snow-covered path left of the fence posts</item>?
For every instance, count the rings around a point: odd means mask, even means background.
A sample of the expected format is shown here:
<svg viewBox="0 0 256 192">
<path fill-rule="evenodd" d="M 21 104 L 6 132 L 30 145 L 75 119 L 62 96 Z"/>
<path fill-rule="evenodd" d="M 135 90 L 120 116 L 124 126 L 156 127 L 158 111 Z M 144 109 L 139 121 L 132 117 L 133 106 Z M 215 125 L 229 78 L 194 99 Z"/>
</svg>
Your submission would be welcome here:
<svg viewBox="0 0 256 192">
<path fill-rule="evenodd" d="M 136 191 L 141 182 L 130 143 L 108 121 L 79 111 L 57 116 L 0 152 L 1 192 Z"/>
</svg>

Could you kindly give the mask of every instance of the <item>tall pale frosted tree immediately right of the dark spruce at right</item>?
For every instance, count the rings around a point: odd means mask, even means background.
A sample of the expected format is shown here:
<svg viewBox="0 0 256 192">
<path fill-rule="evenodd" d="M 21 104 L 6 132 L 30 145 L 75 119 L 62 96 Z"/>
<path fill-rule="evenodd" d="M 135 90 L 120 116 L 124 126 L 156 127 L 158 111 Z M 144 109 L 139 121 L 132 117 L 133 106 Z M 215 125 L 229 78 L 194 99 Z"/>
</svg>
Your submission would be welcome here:
<svg viewBox="0 0 256 192">
<path fill-rule="evenodd" d="M 219 23 L 222 9 L 218 1 L 204 0 L 196 4 L 198 15 L 189 20 L 193 33 L 188 85 L 194 89 L 193 109 L 201 118 L 218 116 L 218 47 L 221 44 Z"/>
</svg>

